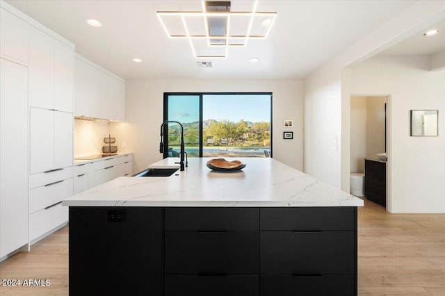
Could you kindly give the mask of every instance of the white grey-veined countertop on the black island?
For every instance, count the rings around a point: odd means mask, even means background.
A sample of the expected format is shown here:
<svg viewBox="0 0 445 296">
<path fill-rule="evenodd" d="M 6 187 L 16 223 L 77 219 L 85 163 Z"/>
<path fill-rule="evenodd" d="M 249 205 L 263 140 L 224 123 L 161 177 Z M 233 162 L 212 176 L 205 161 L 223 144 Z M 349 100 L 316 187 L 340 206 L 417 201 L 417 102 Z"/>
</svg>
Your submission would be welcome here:
<svg viewBox="0 0 445 296">
<path fill-rule="evenodd" d="M 63 200 L 63 206 L 363 206 L 363 200 L 273 158 L 236 158 L 243 170 L 217 172 L 189 158 L 167 177 L 117 179 Z M 234 158 L 226 158 L 233 161 Z M 165 158 L 149 167 L 179 167 Z"/>
</svg>

